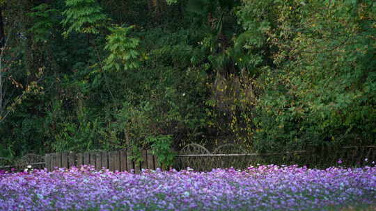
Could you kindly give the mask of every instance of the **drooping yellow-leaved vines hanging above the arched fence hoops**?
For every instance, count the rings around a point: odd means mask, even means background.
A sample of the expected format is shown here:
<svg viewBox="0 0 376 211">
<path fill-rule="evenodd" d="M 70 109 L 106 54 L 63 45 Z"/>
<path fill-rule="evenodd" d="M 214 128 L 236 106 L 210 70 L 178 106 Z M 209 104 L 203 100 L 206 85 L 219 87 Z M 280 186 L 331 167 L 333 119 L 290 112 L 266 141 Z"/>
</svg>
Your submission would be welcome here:
<svg viewBox="0 0 376 211">
<path fill-rule="evenodd" d="M 205 103 L 208 128 L 216 133 L 215 144 L 239 144 L 253 148 L 253 106 L 256 105 L 253 79 L 248 74 L 224 78 L 211 85 L 212 96 Z"/>
</svg>

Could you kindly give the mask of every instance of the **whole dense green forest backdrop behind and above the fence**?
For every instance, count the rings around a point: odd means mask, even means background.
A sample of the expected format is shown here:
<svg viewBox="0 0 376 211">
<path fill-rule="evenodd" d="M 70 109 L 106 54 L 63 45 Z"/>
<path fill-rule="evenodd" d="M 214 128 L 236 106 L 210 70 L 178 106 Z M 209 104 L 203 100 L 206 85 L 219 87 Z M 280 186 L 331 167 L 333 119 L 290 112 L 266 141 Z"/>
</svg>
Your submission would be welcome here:
<svg viewBox="0 0 376 211">
<path fill-rule="evenodd" d="M 373 0 L 1 0 L 0 157 L 376 144 Z"/>
</svg>

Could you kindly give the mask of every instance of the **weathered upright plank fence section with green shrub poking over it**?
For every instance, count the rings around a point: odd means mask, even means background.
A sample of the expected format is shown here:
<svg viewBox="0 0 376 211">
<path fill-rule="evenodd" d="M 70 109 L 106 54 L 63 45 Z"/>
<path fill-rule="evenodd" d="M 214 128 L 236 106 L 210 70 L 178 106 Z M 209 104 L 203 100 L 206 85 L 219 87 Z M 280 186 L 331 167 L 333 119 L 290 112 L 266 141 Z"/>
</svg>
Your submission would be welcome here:
<svg viewBox="0 0 376 211">
<path fill-rule="evenodd" d="M 91 151 L 86 153 L 50 153 L 45 155 L 45 167 L 52 170 L 55 167 L 79 167 L 81 165 L 91 165 L 95 169 L 102 168 L 110 171 L 134 171 L 139 173 L 141 169 L 157 169 L 159 164 L 157 157 L 148 150 L 141 151 L 143 160 L 135 162 L 132 151 Z"/>
</svg>

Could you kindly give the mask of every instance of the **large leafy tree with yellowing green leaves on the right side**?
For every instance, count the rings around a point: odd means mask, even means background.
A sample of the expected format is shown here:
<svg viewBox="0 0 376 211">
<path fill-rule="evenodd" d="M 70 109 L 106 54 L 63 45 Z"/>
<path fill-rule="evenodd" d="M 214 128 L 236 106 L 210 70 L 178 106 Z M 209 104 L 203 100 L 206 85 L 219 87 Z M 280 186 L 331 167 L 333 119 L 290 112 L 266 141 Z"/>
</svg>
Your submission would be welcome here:
<svg viewBox="0 0 376 211">
<path fill-rule="evenodd" d="M 261 58 L 272 58 L 260 67 L 258 150 L 374 144 L 372 8 L 370 1 L 247 1 L 238 12 L 246 33 L 258 28 L 246 42 L 268 44 Z"/>
</svg>

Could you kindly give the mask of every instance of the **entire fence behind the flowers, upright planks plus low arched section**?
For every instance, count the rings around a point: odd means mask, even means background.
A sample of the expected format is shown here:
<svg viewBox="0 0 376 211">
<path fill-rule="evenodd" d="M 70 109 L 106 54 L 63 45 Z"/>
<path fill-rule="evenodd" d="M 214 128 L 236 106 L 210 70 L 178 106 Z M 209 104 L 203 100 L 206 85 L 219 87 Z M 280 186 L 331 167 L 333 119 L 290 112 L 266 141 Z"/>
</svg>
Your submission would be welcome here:
<svg viewBox="0 0 376 211">
<path fill-rule="evenodd" d="M 90 151 L 85 153 L 49 153 L 45 156 L 29 154 L 20 159 L 20 162 L 6 164 L 0 169 L 15 168 L 22 171 L 28 165 L 35 169 L 55 167 L 79 167 L 91 165 L 95 169 L 102 168 L 110 171 L 134 171 L 139 173 L 141 169 L 160 168 L 157 157 L 148 150 L 141 151 L 142 161 L 133 160 L 132 151 Z M 339 149 L 322 149 L 320 151 L 290 151 L 282 153 L 246 153 L 234 144 L 225 144 L 212 152 L 198 144 L 185 146 L 173 163 L 175 169 L 187 169 L 191 167 L 196 171 L 210 171 L 213 168 L 244 169 L 255 164 L 298 164 L 311 168 L 324 169 L 337 166 L 341 160 L 341 166 L 359 167 L 373 165 L 376 162 L 376 146 L 345 146 Z"/>
</svg>

